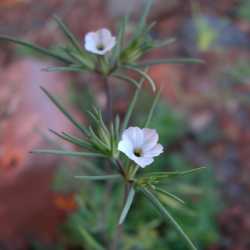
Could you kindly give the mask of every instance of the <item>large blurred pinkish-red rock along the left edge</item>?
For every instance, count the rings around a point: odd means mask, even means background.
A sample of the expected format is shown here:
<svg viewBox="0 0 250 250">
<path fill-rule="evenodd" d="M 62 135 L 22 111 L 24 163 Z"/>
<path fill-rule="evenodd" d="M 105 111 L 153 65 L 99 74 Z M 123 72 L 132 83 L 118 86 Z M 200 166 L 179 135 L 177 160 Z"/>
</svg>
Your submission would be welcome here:
<svg viewBox="0 0 250 250">
<path fill-rule="evenodd" d="M 10 249 L 22 249 L 33 239 L 52 241 L 70 210 L 61 209 L 62 199 L 55 199 L 51 191 L 62 158 L 29 154 L 49 146 L 52 138 L 43 135 L 48 127 L 73 131 L 39 89 L 46 86 L 54 95 L 65 97 L 68 77 L 41 71 L 45 67 L 48 64 L 27 59 L 0 72 L 0 239 Z"/>
</svg>

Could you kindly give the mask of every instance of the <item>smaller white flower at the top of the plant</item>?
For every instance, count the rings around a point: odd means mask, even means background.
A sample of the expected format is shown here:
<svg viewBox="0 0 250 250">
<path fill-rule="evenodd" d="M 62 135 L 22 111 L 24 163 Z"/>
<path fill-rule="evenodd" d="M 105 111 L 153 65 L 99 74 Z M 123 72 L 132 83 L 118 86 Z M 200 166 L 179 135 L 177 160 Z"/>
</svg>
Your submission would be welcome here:
<svg viewBox="0 0 250 250">
<path fill-rule="evenodd" d="M 89 32 L 85 36 L 85 49 L 98 55 L 105 55 L 116 44 L 116 38 L 108 29 Z"/>
</svg>

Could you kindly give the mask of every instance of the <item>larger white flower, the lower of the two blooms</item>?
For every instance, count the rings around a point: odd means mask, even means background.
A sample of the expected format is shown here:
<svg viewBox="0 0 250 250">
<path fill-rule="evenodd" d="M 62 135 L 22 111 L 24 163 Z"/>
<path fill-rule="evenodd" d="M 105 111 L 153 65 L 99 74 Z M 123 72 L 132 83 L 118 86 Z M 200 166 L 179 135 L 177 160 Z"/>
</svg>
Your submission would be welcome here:
<svg viewBox="0 0 250 250">
<path fill-rule="evenodd" d="M 122 133 L 118 150 L 144 168 L 154 161 L 153 157 L 163 152 L 158 140 L 159 136 L 155 129 L 129 127 Z"/>
</svg>

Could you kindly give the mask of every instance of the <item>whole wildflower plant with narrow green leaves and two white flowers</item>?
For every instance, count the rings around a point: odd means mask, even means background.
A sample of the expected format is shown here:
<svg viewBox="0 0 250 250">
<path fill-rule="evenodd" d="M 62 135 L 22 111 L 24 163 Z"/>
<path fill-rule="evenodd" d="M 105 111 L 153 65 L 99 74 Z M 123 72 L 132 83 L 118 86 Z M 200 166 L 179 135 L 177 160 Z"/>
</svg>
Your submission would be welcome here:
<svg viewBox="0 0 250 250">
<path fill-rule="evenodd" d="M 155 23 L 149 25 L 146 23 L 151 4 L 152 1 L 147 1 L 144 12 L 135 27 L 135 31 L 128 40 L 127 36 L 125 36 L 125 31 L 129 16 L 121 20 L 116 36 L 108 29 L 103 28 L 87 33 L 83 42 L 79 41 L 58 17 L 55 17 L 55 21 L 68 40 L 67 45 L 58 47 L 56 50 L 42 48 L 36 44 L 9 36 L 0 36 L 0 41 L 13 42 L 28 47 L 60 63 L 59 66 L 47 68 L 47 71 L 95 73 L 101 76 L 106 86 L 107 107 L 105 109 L 105 117 L 101 109 L 94 107 L 91 111 L 88 111 L 90 117 L 89 126 L 78 122 L 57 98 L 48 90 L 41 87 L 44 94 L 47 95 L 50 101 L 52 101 L 76 129 L 81 132 L 82 136 L 76 137 L 65 132 L 59 133 L 54 130 L 50 130 L 50 132 L 64 141 L 79 147 L 81 150 L 38 149 L 32 152 L 68 157 L 103 159 L 103 161 L 108 162 L 113 167 L 113 174 L 76 176 L 76 178 L 85 181 L 116 180 L 124 185 L 124 204 L 118 221 L 119 226 L 125 222 L 132 203 L 136 202 L 136 196 L 142 194 L 153 204 L 162 217 L 176 228 L 189 248 L 196 249 L 181 226 L 162 204 L 159 194 L 183 203 L 180 198 L 162 189 L 161 185 L 166 183 L 170 178 L 192 174 L 203 168 L 178 172 L 158 172 L 153 170 L 152 164 L 154 158 L 165 153 L 166 148 L 163 148 L 163 146 L 158 143 L 159 136 L 157 131 L 150 128 L 150 121 L 160 98 L 161 89 L 157 90 L 153 79 L 147 73 L 147 69 L 157 64 L 201 63 L 202 61 L 187 58 L 141 60 L 147 52 L 174 42 L 174 39 L 155 41 L 151 37 L 150 32 Z M 130 77 L 128 74 L 130 71 L 138 74 L 141 79 L 137 81 Z M 131 83 L 135 87 L 134 96 L 130 101 L 123 120 L 120 119 L 119 115 L 113 115 L 112 112 L 112 93 L 109 86 L 110 77 Z M 130 126 L 131 116 L 145 82 L 148 82 L 152 87 L 155 95 L 154 101 L 148 112 L 144 127 Z M 152 171 L 145 173 L 143 169 L 145 167 L 152 167 Z"/>
</svg>

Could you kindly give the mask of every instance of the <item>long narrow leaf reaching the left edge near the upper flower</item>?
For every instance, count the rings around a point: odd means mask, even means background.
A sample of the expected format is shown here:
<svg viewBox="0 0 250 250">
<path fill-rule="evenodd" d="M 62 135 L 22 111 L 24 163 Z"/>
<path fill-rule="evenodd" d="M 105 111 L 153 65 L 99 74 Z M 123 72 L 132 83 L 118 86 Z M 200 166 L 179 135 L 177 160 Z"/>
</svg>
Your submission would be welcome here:
<svg viewBox="0 0 250 250">
<path fill-rule="evenodd" d="M 73 63 L 71 60 L 69 60 L 68 58 L 66 57 L 63 57 L 55 52 L 52 52 L 50 51 L 49 49 L 45 49 L 45 48 L 42 48 L 36 44 L 32 44 L 30 42 L 26 42 L 26 41 L 23 41 L 23 40 L 20 40 L 20 39 L 16 39 L 14 37 L 10 37 L 10 36 L 0 36 L 0 41 L 7 41 L 7 42 L 12 42 L 12 43 L 15 43 L 15 44 L 18 44 L 18 45 L 22 45 L 26 48 L 29 48 L 29 49 L 33 49 L 41 54 L 44 54 L 44 55 L 47 55 L 47 56 L 50 56 L 50 57 L 53 57 L 61 62 L 64 62 L 66 64 L 71 64 Z"/>
</svg>

